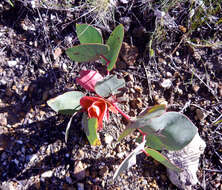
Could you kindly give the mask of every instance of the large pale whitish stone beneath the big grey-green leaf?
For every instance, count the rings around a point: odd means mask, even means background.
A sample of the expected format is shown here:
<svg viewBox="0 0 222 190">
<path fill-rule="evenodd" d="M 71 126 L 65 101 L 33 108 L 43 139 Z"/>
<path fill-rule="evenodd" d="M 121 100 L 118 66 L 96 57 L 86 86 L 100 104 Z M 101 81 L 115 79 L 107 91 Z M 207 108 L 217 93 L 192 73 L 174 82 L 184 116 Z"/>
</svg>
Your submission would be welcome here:
<svg viewBox="0 0 222 190">
<path fill-rule="evenodd" d="M 198 183 L 197 170 L 200 155 L 203 154 L 206 143 L 197 133 L 193 140 L 182 150 L 164 151 L 163 154 L 179 168 L 183 169 L 178 173 L 167 168 L 167 174 L 170 181 L 179 189 L 192 190 L 192 186 Z"/>
</svg>

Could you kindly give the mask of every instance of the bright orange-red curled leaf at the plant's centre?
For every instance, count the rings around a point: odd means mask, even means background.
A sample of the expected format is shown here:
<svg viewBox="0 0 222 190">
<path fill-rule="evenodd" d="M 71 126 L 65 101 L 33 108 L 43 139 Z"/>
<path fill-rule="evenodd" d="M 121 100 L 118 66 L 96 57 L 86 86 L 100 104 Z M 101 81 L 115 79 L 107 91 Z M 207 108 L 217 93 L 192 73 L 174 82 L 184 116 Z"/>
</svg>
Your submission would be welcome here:
<svg viewBox="0 0 222 190">
<path fill-rule="evenodd" d="M 88 112 L 89 118 L 98 119 L 98 131 L 103 128 L 103 119 L 105 115 L 108 118 L 108 111 L 117 113 L 117 110 L 107 100 L 99 97 L 84 96 L 80 99 L 80 105 Z"/>
</svg>

